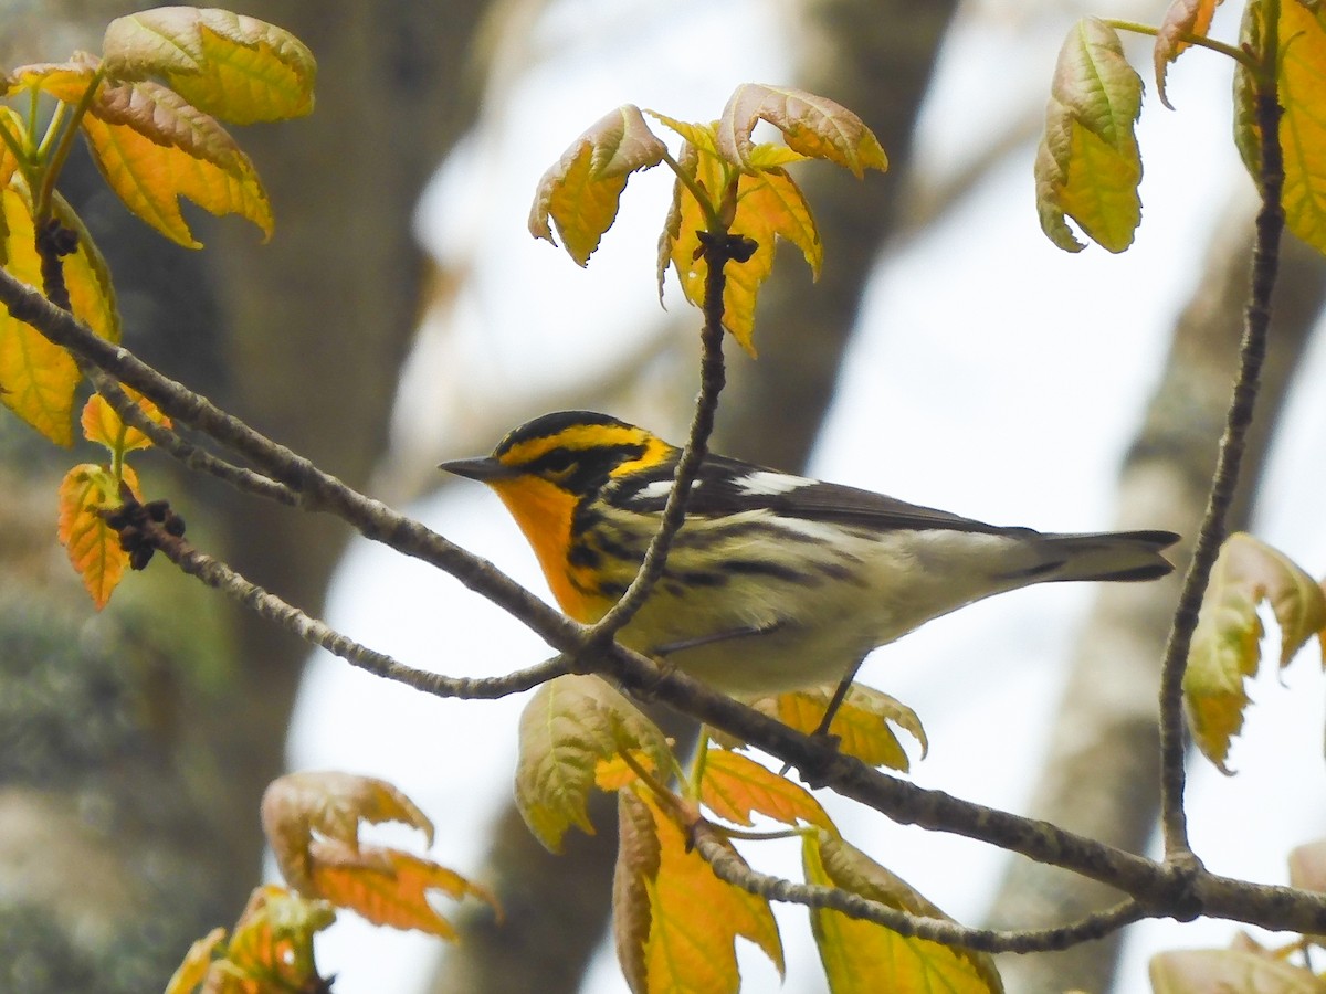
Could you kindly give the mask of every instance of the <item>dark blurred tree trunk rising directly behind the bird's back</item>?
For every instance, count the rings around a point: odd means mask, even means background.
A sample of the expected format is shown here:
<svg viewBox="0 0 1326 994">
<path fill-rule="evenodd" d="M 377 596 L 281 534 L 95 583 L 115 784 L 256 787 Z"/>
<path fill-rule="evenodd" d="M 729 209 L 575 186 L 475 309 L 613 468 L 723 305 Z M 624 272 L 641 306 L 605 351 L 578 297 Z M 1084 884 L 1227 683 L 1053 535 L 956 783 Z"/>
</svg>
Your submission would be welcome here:
<svg viewBox="0 0 1326 994">
<path fill-rule="evenodd" d="M 805 461 L 833 396 L 865 284 L 899 216 L 912 129 L 953 7 L 906 0 L 800 4 L 790 30 L 796 85 L 858 113 L 887 150 L 890 172 L 858 182 L 822 166 L 798 171 L 825 243 L 823 277 L 813 285 L 804 261 L 784 247 L 774 278 L 761 290 L 760 360 L 733 353 L 729 362 L 716 448 L 789 469 Z M 573 854 L 564 856 L 545 852 L 514 808 L 499 816 L 477 876 L 496 881 L 508 920 L 495 925 L 473 916 L 465 941 L 446 950 L 434 994 L 579 989 L 607 921 L 615 859 L 611 804 L 601 801 L 593 815 L 599 834 L 574 839 Z"/>
</svg>

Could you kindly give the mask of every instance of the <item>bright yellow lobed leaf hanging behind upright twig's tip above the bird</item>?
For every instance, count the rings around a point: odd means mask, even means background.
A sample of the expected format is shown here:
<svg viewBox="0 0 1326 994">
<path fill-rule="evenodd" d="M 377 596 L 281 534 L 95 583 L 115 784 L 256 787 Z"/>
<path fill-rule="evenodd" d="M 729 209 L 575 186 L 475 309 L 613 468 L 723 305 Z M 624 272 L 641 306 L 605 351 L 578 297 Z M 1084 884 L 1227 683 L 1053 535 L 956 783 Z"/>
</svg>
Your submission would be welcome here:
<svg viewBox="0 0 1326 994">
<path fill-rule="evenodd" d="M 705 131 L 700 125 L 692 125 L 691 130 L 701 134 Z M 708 134 L 712 135 L 712 131 Z M 729 171 L 717 155 L 704 150 L 709 143 L 708 139 L 701 139 L 700 146 L 688 143 L 678 164 L 717 197 L 729 182 Z M 671 265 L 682 293 L 696 306 L 704 304 L 707 265 L 700 254 L 700 232 L 708 228 L 704 208 L 678 182 L 668 221 L 659 241 L 659 281 L 662 288 L 663 273 Z M 773 270 L 777 239 L 788 239 L 801 249 L 815 278 L 823 261 L 823 247 L 800 187 L 786 171 L 777 167 L 737 176 L 736 212 L 729 229 L 753 239 L 757 245 L 749 260 L 727 268 L 727 286 L 723 292 L 723 325 L 753 357 L 756 301 L 761 284 Z"/>
</svg>

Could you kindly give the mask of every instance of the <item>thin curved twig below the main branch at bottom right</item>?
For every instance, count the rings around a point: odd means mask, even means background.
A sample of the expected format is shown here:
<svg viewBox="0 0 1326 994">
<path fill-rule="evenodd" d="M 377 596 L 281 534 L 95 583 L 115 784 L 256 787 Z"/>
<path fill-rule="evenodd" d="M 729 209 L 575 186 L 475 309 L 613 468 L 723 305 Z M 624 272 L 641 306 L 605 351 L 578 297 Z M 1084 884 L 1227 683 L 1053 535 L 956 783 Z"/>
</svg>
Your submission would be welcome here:
<svg viewBox="0 0 1326 994">
<path fill-rule="evenodd" d="M 837 887 L 798 884 L 793 880 L 761 873 L 752 869 L 724 846 L 713 827 L 703 822 L 695 827 L 692 839 L 696 852 L 713 868 L 715 876 L 748 893 L 770 901 L 842 912 L 850 918 L 883 925 L 900 936 L 927 938 L 945 946 L 960 946 L 984 953 L 1042 953 L 1067 949 L 1079 942 L 1103 938 L 1124 925 L 1147 917 L 1147 911 L 1138 901 L 1128 899 L 1103 912 L 1057 928 L 973 929 L 947 918 L 911 914 Z"/>
</svg>

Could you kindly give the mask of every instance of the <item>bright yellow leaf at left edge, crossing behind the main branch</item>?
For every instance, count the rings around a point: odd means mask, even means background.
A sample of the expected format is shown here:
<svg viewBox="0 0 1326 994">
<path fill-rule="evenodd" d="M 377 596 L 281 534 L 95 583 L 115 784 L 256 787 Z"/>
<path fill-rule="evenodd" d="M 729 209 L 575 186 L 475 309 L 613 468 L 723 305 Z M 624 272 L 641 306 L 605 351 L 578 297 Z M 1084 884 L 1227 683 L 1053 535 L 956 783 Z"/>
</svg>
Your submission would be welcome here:
<svg viewBox="0 0 1326 994">
<path fill-rule="evenodd" d="M 0 192 L 5 228 L 5 269 L 16 280 L 41 286 L 41 258 L 30 204 L 13 186 Z M 80 317 L 82 317 L 80 314 Z M 0 311 L 0 400 L 23 420 L 60 445 L 73 441 L 74 387 L 78 367 L 37 329 Z"/>
</svg>

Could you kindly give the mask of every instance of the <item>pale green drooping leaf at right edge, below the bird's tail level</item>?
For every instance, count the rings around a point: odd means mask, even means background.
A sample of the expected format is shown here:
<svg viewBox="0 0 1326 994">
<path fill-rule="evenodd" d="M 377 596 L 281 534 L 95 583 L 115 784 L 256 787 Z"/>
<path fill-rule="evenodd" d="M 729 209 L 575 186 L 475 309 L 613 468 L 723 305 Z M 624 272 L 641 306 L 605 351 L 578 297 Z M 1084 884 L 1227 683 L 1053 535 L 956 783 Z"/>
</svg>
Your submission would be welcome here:
<svg viewBox="0 0 1326 994">
<path fill-rule="evenodd" d="M 1280 623 L 1280 665 L 1326 627 L 1326 592 L 1298 566 L 1252 535 L 1225 539 L 1211 569 L 1192 634 L 1183 693 L 1193 738 L 1221 773 L 1229 741 L 1242 730 L 1249 704 L 1244 677 L 1261 663 L 1257 606 L 1269 602 Z"/>
</svg>

